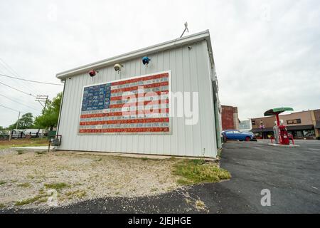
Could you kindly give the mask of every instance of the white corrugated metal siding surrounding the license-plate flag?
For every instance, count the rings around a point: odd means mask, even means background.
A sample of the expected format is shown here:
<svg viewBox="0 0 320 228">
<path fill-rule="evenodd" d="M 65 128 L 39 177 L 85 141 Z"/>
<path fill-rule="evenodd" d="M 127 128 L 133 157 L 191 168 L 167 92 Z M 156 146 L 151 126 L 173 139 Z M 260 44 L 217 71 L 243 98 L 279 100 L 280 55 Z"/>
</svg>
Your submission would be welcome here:
<svg viewBox="0 0 320 228">
<path fill-rule="evenodd" d="M 66 79 L 60 115 L 59 134 L 62 141 L 59 150 L 215 157 L 217 145 L 208 48 L 206 41 L 191 46 L 191 50 L 183 46 L 153 54 L 149 56 L 151 63 L 148 67 L 142 64 L 141 58 L 136 58 L 124 62 L 119 74 L 113 66 L 109 66 L 98 69 L 100 72 L 94 81 L 87 73 Z M 83 86 L 168 70 L 171 70 L 172 92 L 198 91 L 198 124 L 185 125 L 184 117 L 174 117 L 171 135 L 78 135 Z"/>
</svg>

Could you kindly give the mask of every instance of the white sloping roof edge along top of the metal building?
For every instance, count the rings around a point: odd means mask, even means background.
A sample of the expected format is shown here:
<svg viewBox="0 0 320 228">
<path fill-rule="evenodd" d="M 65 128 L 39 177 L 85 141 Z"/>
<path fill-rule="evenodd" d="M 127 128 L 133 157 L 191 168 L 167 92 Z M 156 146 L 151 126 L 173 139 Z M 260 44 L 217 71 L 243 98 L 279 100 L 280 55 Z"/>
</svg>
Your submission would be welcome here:
<svg viewBox="0 0 320 228">
<path fill-rule="evenodd" d="M 208 41 L 208 48 L 210 49 L 209 51 L 210 51 L 210 54 L 212 55 L 210 33 L 209 33 L 209 30 L 206 30 L 206 31 L 201 31 L 199 33 L 189 35 L 189 36 L 184 36 L 182 38 L 176 38 L 171 41 L 166 41 L 164 43 L 159 43 L 154 46 L 149 46 L 149 47 L 142 48 L 142 49 L 139 49 L 136 51 L 124 53 L 122 55 L 114 56 L 112 58 L 106 58 L 102 61 L 90 63 L 90 64 L 87 64 L 84 66 L 80 66 L 78 68 L 70 69 L 68 71 L 63 71 L 63 72 L 57 73 L 55 76 L 62 80 L 63 78 L 75 76 L 76 74 L 79 74 L 79 73 L 85 73 L 87 71 L 90 71 L 90 69 L 92 69 L 92 68 L 102 68 L 105 66 L 110 66 L 114 63 L 127 61 L 131 58 L 137 58 L 139 56 L 144 56 L 146 54 L 151 54 L 151 53 L 155 53 L 155 52 L 159 52 L 159 51 L 165 51 L 165 50 L 168 50 L 169 48 L 183 46 L 188 43 L 195 43 L 197 41 L 202 41 L 202 40 Z M 212 59 L 212 61 L 213 61 L 213 59 Z"/>
</svg>

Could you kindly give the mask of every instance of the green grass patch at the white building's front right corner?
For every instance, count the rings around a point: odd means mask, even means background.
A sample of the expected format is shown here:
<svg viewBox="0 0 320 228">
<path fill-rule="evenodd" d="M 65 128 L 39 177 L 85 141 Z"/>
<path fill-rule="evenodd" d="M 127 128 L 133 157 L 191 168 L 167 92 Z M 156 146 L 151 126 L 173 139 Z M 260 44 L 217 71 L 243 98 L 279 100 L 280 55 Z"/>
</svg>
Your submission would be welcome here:
<svg viewBox="0 0 320 228">
<path fill-rule="evenodd" d="M 231 177 L 227 170 L 220 169 L 215 164 L 206 164 L 201 159 L 179 160 L 174 164 L 173 174 L 182 177 L 177 180 L 180 185 L 219 182 Z"/>
</svg>

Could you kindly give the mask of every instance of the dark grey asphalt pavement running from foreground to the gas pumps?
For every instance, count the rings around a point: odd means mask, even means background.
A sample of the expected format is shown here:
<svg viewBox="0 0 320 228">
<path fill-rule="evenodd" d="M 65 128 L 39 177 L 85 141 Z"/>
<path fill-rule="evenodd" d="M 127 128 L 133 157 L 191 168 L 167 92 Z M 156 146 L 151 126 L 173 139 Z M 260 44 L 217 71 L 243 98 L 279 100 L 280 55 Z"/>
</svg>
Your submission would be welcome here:
<svg viewBox="0 0 320 228">
<path fill-rule="evenodd" d="M 229 181 L 156 197 L 103 198 L 47 211 L 2 213 L 320 213 L 320 141 L 297 142 L 300 147 L 267 142 L 223 145 L 221 166 L 231 172 Z M 260 203 L 264 189 L 271 192 L 271 206 Z"/>
</svg>

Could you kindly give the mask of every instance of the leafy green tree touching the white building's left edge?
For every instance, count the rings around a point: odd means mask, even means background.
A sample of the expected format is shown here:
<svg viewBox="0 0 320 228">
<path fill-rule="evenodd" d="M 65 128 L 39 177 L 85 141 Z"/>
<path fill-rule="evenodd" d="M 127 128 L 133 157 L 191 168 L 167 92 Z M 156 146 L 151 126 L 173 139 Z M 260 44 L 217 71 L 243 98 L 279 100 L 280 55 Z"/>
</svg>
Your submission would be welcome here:
<svg viewBox="0 0 320 228">
<path fill-rule="evenodd" d="M 50 128 L 50 130 L 53 130 L 53 128 L 58 125 L 61 98 L 62 93 L 58 93 L 52 101 L 48 100 L 46 109 L 43 110 L 42 115 L 36 117 L 34 122 L 36 127 Z"/>
</svg>

